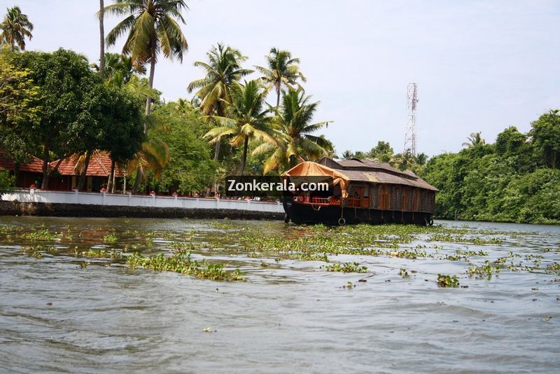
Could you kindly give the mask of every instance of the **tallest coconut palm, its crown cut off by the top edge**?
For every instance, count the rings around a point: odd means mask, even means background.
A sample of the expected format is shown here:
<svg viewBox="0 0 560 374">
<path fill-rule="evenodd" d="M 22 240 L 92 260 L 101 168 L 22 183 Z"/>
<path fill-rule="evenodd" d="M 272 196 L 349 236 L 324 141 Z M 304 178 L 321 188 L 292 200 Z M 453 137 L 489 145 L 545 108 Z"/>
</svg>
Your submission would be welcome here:
<svg viewBox="0 0 560 374">
<path fill-rule="evenodd" d="M 128 34 L 123 54 L 132 57 L 137 70 L 150 64 L 150 88 L 153 88 L 155 63 L 160 53 L 170 60 L 177 58 L 183 62 L 188 43 L 177 21 L 185 24 L 181 15 L 185 9 L 188 7 L 184 0 L 115 0 L 104 9 L 106 13 L 127 16 L 107 34 L 106 42 L 113 46 L 120 36 Z M 148 97 L 146 116 L 150 113 L 151 98 Z"/>
</svg>

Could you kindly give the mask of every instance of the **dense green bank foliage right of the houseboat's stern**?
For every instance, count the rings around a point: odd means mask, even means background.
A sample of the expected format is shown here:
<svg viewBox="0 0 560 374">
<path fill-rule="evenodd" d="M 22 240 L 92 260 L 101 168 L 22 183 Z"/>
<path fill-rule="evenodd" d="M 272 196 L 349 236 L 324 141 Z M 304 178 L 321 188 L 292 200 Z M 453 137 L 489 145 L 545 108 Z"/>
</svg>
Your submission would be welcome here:
<svg viewBox="0 0 560 374">
<path fill-rule="evenodd" d="M 498 134 L 496 144 L 478 143 L 431 158 L 420 175 L 440 189 L 435 215 L 559 223 L 560 172 L 552 168 L 558 117 L 557 111 L 541 116 L 533 122 L 531 137 L 509 127 Z"/>
</svg>

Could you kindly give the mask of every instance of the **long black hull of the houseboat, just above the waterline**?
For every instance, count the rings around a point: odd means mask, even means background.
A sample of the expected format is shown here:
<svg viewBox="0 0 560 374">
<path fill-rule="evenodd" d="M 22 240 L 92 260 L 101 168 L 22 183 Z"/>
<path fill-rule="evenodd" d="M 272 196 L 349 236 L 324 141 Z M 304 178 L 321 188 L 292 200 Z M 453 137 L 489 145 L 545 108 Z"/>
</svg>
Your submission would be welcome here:
<svg viewBox="0 0 560 374">
<path fill-rule="evenodd" d="M 339 205 L 312 206 L 286 199 L 283 203 L 286 221 L 296 224 L 324 223 L 326 225 L 344 225 L 369 223 L 404 223 L 426 226 L 433 224 L 432 214 L 426 212 L 400 212 L 394 210 L 342 208 Z"/>
</svg>

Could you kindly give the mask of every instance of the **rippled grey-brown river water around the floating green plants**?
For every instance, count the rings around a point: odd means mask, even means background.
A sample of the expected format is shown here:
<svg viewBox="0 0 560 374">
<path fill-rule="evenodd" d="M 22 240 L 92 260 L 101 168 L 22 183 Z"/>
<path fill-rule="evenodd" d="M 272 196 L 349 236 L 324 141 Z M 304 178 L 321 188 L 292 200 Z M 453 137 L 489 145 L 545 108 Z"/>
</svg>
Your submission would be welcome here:
<svg viewBox="0 0 560 374">
<path fill-rule="evenodd" d="M 325 272 L 321 261 L 254 257 L 235 240 L 255 230 L 262 237 L 303 235 L 283 223 L 0 217 L 0 368 L 556 371 L 559 273 L 519 265 L 488 280 L 469 277 L 472 265 L 446 256 L 483 251 L 491 261 L 509 256 L 553 269 L 560 261 L 560 228 L 440 224 L 466 225 L 472 235 L 503 242 L 433 242 L 420 235 L 399 250 L 425 246 L 433 256 L 329 256 L 367 266 L 367 274 L 357 274 Z M 122 260 L 79 255 L 93 247 L 147 256 L 169 252 L 174 242 L 202 244 L 193 258 L 239 268 L 247 282 L 132 270 Z M 56 249 L 36 258 L 22 251 L 31 244 Z M 457 275 L 468 287 L 440 288 L 440 273 Z M 343 287 L 348 282 L 356 286 Z"/>
</svg>

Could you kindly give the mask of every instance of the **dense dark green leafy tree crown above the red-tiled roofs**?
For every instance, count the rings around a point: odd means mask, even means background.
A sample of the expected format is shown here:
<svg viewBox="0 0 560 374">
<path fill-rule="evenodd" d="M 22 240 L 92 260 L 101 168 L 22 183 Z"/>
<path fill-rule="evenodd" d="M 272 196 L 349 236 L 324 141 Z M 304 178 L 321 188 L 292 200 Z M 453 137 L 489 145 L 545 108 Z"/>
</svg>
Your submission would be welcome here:
<svg viewBox="0 0 560 374">
<path fill-rule="evenodd" d="M 36 116 L 20 121 L 16 129 L 29 137 L 44 162 L 95 149 L 111 151 L 117 158 L 137 152 L 144 139 L 139 103 L 127 92 L 103 85 L 83 55 L 59 49 L 17 53 L 11 60 L 19 69 L 28 69 L 38 86 Z M 43 178 L 43 188 L 46 183 Z"/>
</svg>

